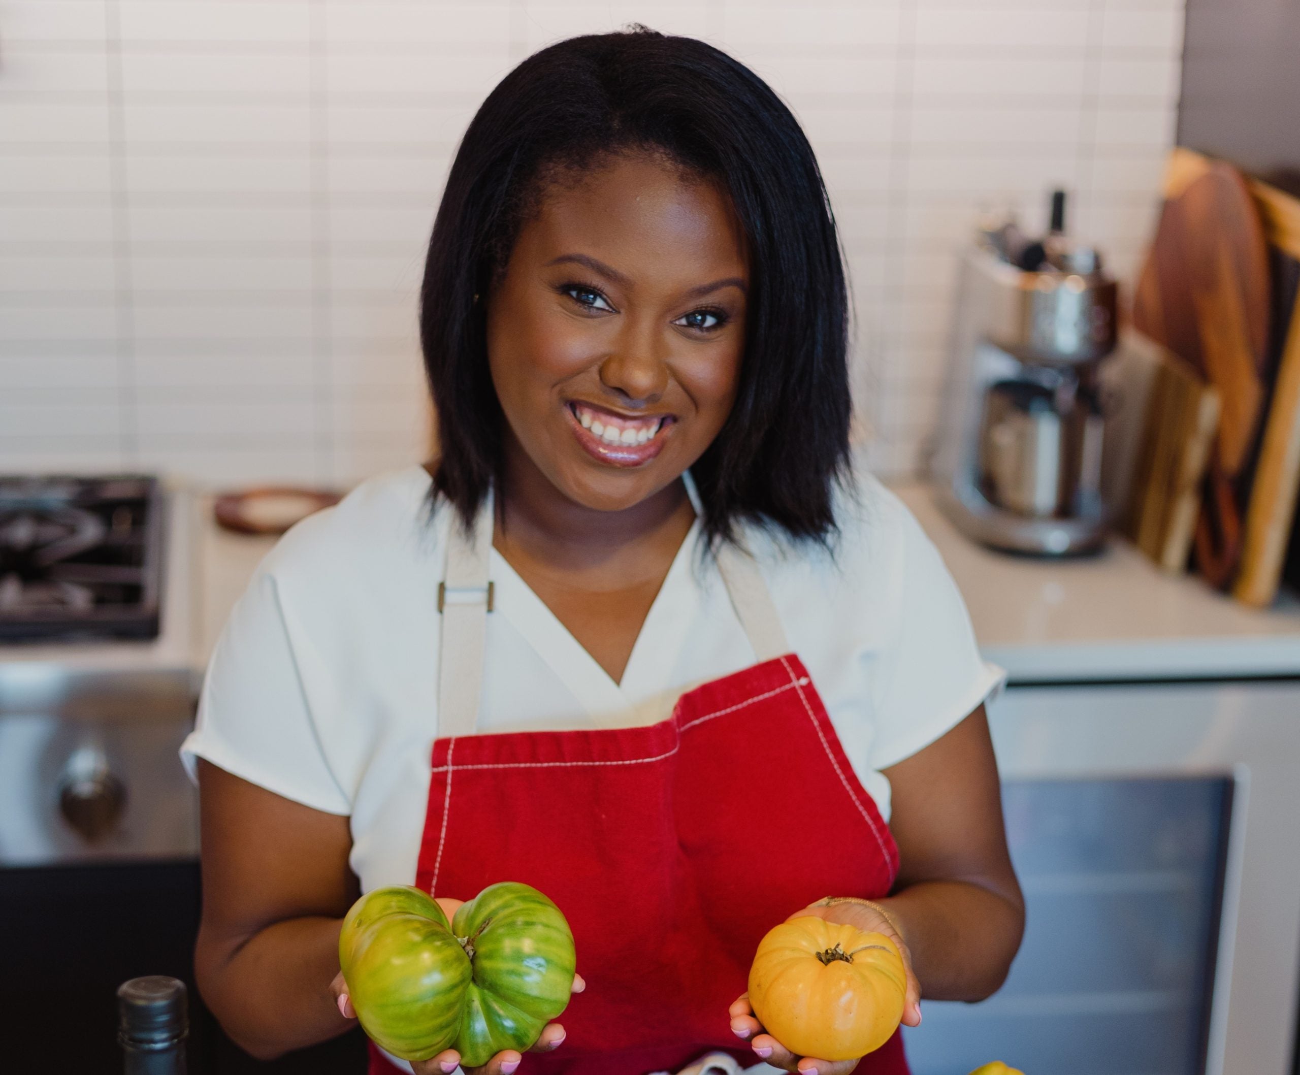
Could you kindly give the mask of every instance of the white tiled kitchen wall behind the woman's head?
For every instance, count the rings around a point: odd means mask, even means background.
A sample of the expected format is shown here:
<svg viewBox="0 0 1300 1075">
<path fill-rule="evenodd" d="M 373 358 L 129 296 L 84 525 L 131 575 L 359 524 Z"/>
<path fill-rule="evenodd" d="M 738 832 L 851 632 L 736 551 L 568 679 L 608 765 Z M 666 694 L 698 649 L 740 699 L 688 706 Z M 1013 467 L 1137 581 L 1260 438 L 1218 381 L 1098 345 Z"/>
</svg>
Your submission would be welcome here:
<svg viewBox="0 0 1300 1075">
<path fill-rule="evenodd" d="M 0 469 L 346 482 L 428 438 L 415 302 L 455 144 L 512 64 L 630 21 L 792 104 L 857 299 L 884 472 L 935 420 L 980 208 L 1131 274 L 1182 0 L 0 0 Z"/>
</svg>

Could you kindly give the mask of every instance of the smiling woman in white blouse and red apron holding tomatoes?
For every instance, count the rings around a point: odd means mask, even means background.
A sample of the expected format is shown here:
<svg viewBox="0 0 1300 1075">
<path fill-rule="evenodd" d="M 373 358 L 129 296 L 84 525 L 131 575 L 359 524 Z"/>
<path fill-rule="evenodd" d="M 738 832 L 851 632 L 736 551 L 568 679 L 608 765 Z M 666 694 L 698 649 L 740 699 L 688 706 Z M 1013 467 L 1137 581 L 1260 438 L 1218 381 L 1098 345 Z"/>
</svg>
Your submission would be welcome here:
<svg viewBox="0 0 1300 1075">
<path fill-rule="evenodd" d="M 339 923 L 387 884 L 521 880 L 568 916 L 588 989 L 491 1075 L 853 1070 L 741 996 L 801 914 L 898 942 L 909 1026 L 922 989 L 998 987 L 998 673 L 852 465 L 846 315 L 812 152 L 734 60 L 637 29 L 493 91 L 425 269 L 441 458 L 286 536 L 186 745 L 199 983 L 237 1041 L 354 1024 Z M 901 1039 L 861 1067 L 905 1072 Z"/>
</svg>

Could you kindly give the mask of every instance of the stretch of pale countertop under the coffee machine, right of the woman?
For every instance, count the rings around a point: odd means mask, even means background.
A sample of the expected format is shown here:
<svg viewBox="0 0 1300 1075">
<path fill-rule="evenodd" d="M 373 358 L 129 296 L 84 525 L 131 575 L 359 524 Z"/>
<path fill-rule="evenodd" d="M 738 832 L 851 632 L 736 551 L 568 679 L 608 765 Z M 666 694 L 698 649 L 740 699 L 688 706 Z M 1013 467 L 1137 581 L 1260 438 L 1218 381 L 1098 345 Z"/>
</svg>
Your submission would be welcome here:
<svg viewBox="0 0 1300 1075">
<path fill-rule="evenodd" d="M 1096 556 L 1039 560 L 975 545 L 924 485 L 894 489 L 939 547 L 975 634 L 1011 682 L 1300 676 L 1300 602 L 1248 608 L 1170 576 L 1121 538 Z"/>
</svg>

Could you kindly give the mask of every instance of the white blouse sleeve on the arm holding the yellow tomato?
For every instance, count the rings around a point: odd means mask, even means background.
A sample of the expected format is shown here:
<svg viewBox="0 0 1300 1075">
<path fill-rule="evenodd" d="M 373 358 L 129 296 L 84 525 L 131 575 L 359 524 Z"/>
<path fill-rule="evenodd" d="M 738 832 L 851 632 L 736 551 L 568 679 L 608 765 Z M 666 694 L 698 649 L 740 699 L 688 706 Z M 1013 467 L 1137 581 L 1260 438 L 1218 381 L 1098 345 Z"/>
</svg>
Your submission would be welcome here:
<svg viewBox="0 0 1300 1075">
<path fill-rule="evenodd" d="M 871 767 L 885 770 L 959 724 L 1006 673 L 980 656 L 962 595 L 939 550 L 901 503 L 893 651 L 876 694 Z"/>
</svg>

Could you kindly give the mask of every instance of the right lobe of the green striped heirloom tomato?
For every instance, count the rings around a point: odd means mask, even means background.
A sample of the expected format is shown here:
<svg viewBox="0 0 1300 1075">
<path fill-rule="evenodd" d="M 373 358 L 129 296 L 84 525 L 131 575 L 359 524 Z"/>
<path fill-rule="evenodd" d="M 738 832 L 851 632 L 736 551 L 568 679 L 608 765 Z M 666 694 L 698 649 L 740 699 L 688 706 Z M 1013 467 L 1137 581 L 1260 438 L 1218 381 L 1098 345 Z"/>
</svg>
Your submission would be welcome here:
<svg viewBox="0 0 1300 1075">
<path fill-rule="evenodd" d="M 569 1001 L 573 933 L 536 888 L 489 885 L 451 923 L 473 963 L 460 1036 L 452 1048 L 465 1067 L 502 1049 L 528 1049 Z"/>
</svg>

